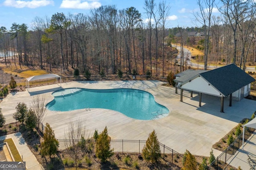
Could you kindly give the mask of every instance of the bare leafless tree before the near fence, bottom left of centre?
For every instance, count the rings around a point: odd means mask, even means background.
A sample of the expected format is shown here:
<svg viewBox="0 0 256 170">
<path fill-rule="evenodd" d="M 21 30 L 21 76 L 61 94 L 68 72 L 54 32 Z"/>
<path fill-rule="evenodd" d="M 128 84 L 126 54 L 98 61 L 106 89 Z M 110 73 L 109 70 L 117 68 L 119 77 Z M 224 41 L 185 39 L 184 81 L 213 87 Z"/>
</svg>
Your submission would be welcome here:
<svg viewBox="0 0 256 170">
<path fill-rule="evenodd" d="M 65 147 L 68 149 L 66 152 L 74 161 L 76 169 L 78 169 L 78 161 L 87 150 L 86 139 L 90 134 L 86 130 L 86 123 L 80 119 L 70 121 L 68 124 L 68 133 L 65 133 Z"/>
</svg>

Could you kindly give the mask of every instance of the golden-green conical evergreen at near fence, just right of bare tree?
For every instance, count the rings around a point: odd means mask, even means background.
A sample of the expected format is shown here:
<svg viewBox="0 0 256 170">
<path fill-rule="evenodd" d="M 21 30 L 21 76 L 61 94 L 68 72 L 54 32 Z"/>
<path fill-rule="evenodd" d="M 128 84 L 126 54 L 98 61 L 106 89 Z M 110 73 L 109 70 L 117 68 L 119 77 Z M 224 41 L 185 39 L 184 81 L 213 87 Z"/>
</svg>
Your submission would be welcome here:
<svg viewBox="0 0 256 170">
<path fill-rule="evenodd" d="M 110 149 L 110 139 L 108 137 L 108 129 L 105 127 L 102 133 L 98 136 L 96 141 L 96 156 L 102 162 L 106 162 L 107 158 L 110 158 L 114 152 L 114 149 Z"/>
</svg>

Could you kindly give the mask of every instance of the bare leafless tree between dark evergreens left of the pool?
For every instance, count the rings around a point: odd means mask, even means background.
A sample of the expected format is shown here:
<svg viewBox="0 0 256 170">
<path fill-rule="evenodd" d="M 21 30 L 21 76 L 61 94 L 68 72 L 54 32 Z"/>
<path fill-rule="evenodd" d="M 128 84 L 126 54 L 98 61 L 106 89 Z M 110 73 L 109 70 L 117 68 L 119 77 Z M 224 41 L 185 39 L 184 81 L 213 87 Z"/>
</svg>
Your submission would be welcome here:
<svg viewBox="0 0 256 170">
<path fill-rule="evenodd" d="M 40 123 L 42 123 L 46 116 L 46 100 L 44 96 L 36 95 L 32 100 L 32 109 L 36 114 L 36 125 L 38 127 L 38 134 L 40 134 Z M 39 135 L 40 138 L 40 135 Z M 40 141 L 40 139 L 39 139 Z"/>
</svg>

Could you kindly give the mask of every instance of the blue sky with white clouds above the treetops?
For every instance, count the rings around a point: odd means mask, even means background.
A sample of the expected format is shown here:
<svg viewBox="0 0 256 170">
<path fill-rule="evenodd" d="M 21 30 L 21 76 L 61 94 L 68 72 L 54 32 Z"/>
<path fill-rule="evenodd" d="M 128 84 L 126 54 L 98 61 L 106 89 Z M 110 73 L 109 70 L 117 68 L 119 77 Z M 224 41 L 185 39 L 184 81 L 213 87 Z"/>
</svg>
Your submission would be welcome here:
<svg viewBox="0 0 256 170">
<path fill-rule="evenodd" d="M 154 0 L 158 5 L 162 0 Z M 118 10 L 134 7 L 146 22 L 144 0 L 0 0 L 0 27 L 10 30 L 12 23 L 30 25 L 35 17 L 51 18 L 57 12 L 67 14 L 89 14 L 90 9 L 116 5 Z M 166 28 L 201 26 L 194 21 L 193 12 L 199 11 L 197 0 L 166 0 L 170 7 Z M 213 15 L 218 15 L 214 8 Z"/>
</svg>

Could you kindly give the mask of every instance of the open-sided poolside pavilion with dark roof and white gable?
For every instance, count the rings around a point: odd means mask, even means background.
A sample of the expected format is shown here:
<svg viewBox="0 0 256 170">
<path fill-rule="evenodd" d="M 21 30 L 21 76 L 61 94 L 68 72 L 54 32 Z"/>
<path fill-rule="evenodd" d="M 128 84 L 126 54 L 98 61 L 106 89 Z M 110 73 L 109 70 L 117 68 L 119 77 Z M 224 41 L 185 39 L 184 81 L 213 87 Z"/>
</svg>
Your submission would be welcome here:
<svg viewBox="0 0 256 170">
<path fill-rule="evenodd" d="M 240 101 L 250 94 L 250 84 L 255 79 L 241 70 L 235 64 L 229 64 L 214 70 L 186 70 L 175 75 L 176 93 L 180 88 L 180 101 L 182 102 L 183 90 L 199 95 L 199 106 L 201 106 L 202 94 L 218 96 L 221 99 L 221 109 L 223 112 L 224 98 Z"/>
</svg>

